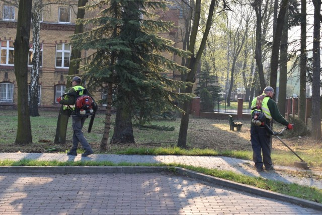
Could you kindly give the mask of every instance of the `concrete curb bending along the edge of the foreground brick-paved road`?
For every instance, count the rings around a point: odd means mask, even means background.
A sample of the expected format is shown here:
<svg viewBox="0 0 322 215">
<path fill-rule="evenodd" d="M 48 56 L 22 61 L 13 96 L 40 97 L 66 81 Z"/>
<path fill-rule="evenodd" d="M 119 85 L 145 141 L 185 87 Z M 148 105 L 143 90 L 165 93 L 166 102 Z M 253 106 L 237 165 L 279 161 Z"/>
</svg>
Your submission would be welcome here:
<svg viewBox="0 0 322 215">
<path fill-rule="evenodd" d="M 50 174 L 144 174 L 144 173 L 160 173 L 172 172 L 183 177 L 189 177 L 211 184 L 232 188 L 251 194 L 259 195 L 267 198 L 274 198 L 277 200 L 297 204 L 300 206 L 312 208 L 322 211 L 322 204 L 305 199 L 276 193 L 257 187 L 240 184 L 225 179 L 197 173 L 180 167 L 94 167 L 94 166 L 61 166 L 61 167 L 30 167 L 30 166 L 1 166 L 0 173 L 50 173 Z"/>
</svg>

